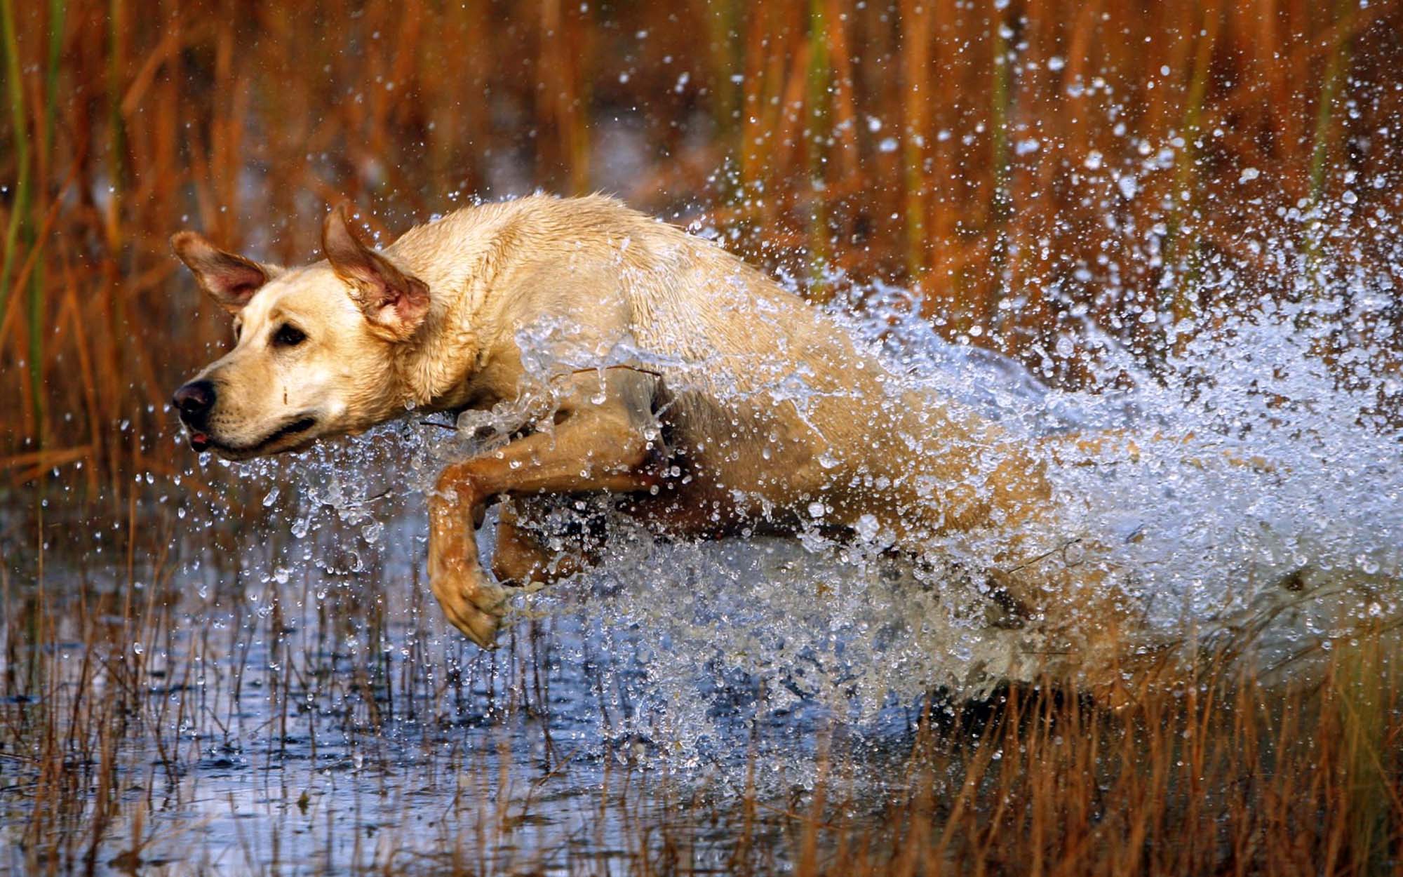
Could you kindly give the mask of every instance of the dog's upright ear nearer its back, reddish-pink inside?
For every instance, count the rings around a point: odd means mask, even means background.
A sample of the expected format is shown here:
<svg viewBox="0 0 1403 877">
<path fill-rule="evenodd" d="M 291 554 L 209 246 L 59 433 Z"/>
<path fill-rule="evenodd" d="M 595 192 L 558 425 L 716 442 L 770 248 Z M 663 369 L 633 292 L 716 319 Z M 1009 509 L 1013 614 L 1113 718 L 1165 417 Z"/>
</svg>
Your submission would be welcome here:
<svg viewBox="0 0 1403 877">
<path fill-rule="evenodd" d="M 429 313 L 429 288 L 366 247 L 351 229 L 347 205 L 327 213 L 321 225 L 321 250 L 333 271 L 351 286 L 376 334 L 389 341 L 408 341 Z"/>
</svg>

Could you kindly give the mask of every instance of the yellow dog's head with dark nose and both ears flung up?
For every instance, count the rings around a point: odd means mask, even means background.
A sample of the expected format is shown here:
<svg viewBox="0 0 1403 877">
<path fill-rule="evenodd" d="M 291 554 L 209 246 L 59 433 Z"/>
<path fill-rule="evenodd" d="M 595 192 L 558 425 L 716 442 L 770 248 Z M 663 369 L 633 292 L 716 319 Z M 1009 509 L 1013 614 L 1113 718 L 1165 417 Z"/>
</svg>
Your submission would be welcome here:
<svg viewBox="0 0 1403 877">
<path fill-rule="evenodd" d="M 362 244 L 345 208 L 323 225 L 325 261 L 306 268 L 261 265 L 195 232 L 171 246 L 234 316 L 234 348 L 173 399 L 195 450 L 229 459 L 296 450 L 361 432 L 401 406 L 394 361 L 428 316 L 429 290 Z"/>
</svg>

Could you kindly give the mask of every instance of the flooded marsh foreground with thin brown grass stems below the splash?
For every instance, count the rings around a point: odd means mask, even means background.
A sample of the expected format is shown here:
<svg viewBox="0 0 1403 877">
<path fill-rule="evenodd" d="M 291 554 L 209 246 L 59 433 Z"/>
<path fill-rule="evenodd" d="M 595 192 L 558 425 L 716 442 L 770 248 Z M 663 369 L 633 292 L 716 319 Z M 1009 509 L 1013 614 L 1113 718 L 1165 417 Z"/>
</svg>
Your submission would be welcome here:
<svg viewBox="0 0 1403 877">
<path fill-rule="evenodd" d="M 253 582 L 196 598 L 177 556 L 199 543 L 170 519 L 133 522 L 118 567 L 153 560 L 129 581 L 58 587 L 52 564 L 42 582 L 4 581 L 0 832 L 28 873 L 1381 874 L 1403 860 L 1396 630 L 1341 624 L 1289 676 L 1208 654 L 1129 700 L 1054 678 L 979 703 L 933 692 L 877 749 L 842 723 L 810 728 L 794 783 L 776 786 L 756 782 L 744 732 L 734 763 L 700 773 L 606 730 L 567 741 L 560 720 L 582 707 L 556 689 L 603 683 L 561 667 L 549 620 L 469 655 L 427 648 L 436 620 L 373 573 L 321 599 L 296 581 L 271 605 L 250 603 Z M 240 582 L 236 565 L 212 578 Z M 206 615 L 216 605 L 231 615 Z M 616 707 L 598 709 L 607 728 Z"/>
</svg>

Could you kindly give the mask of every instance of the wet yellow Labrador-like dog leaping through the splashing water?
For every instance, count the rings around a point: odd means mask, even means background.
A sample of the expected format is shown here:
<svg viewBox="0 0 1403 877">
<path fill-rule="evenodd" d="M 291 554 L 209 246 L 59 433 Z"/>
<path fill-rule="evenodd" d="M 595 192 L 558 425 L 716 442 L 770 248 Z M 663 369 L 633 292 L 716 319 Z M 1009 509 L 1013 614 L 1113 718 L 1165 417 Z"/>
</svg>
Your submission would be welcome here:
<svg viewBox="0 0 1403 877">
<path fill-rule="evenodd" d="M 818 307 L 619 201 L 464 208 L 383 251 L 342 205 L 321 244 L 321 261 L 282 268 L 173 236 L 236 337 L 173 406 L 195 450 L 229 459 L 408 411 L 515 411 L 511 441 L 448 464 L 428 498 L 429 584 L 484 648 L 509 588 L 591 561 L 547 550 L 512 507 L 488 575 L 474 521 L 498 500 L 606 493 L 682 537 L 817 528 L 916 554 L 1048 514 L 1045 459 L 1027 442 L 911 389 Z M 1055 547 L 1000 544 L 982 574 L 1017 612 L 1096 575 L 1049 568 Z"/>
</svg>

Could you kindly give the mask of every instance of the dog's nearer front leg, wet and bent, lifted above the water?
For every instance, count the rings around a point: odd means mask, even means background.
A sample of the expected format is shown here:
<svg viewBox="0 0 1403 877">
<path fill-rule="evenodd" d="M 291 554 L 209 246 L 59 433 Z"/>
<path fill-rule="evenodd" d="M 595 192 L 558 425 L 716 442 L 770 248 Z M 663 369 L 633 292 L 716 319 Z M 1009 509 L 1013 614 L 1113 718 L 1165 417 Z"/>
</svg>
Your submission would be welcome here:
<svg viewBox="0 0 1403 877">
<path fill-rule="evenodd" d="M 502 494 L 634 493 L 655 484 L 644 470 L 650 448 L 643 420 L 650 393 L 640 375 L 609 379 L 596 404 L 598 379 L 557 414 L 550 432 L 535 432 L 439 476 L 429 498 L 429 585 L 455 627 L 484 648 L 492 645 L 506 591 L 483 570 L 477 539 L 467 526 Z"/>
</svg>

